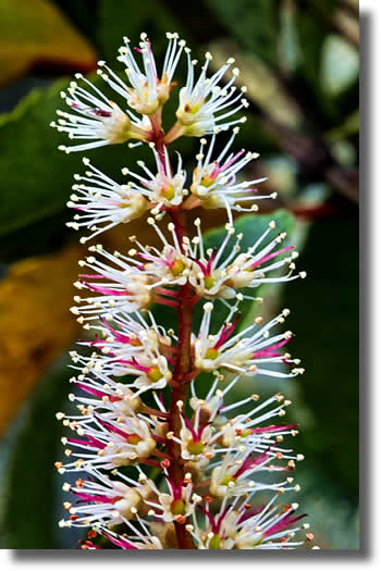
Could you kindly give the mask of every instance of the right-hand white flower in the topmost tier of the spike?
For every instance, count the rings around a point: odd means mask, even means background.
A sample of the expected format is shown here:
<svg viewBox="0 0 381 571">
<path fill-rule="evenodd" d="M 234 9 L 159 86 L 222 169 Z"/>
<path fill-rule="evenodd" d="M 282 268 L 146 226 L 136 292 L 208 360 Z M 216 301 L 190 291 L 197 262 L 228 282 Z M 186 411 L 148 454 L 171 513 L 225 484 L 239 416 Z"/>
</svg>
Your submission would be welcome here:
<svg viewBox="0 0 381 571">
<path fill-rule="evenodd" d="M 212 57 L 210 53 L 206 53 L 201 73 L 195 80 L 194 67 L 197 61 L 190 60 L 190 50 L 185 49 L 185 51 L 188 60 L 186 84 L 180 90 L 180 105 L 176 111 L 177 123 L 169 132 L 165 139 L 168 142 L 181 135 L 200 137 L 208 133 L 226 129 L 236 123 L 244 123 L 246 120 L 246 117 L 230 120 L 231 115 L 239 109 L 248 107 L 246 99 L 242 98 L 242 91 L 236 92 L 236 87 L 233 86 L 239 73 L 238 70 L 233 70 L 233 77 L 225 86 L 219 85 L 225 72 L 234 63 L 234 59 L 229 59 L 225 65 L 208 78 L 207 71 Z"/>
</svg>

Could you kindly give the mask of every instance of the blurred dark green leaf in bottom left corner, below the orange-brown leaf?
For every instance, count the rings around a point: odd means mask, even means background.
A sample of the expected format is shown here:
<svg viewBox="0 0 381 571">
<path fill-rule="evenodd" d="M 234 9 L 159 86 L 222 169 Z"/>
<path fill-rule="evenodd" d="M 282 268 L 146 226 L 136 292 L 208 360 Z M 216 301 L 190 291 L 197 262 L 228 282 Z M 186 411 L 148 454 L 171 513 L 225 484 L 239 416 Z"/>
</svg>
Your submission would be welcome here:
<svg viewBox="0 0 381 571">
<path fill-rule="evenodd" d="M 15 426 L 8 473 L 2 474 L 1 543 L 8 549 L 59 548 L 54 461 L 61 457 L 62 408 L 69 371 L 59 363 L 38 386 Z"/>
</svg>

